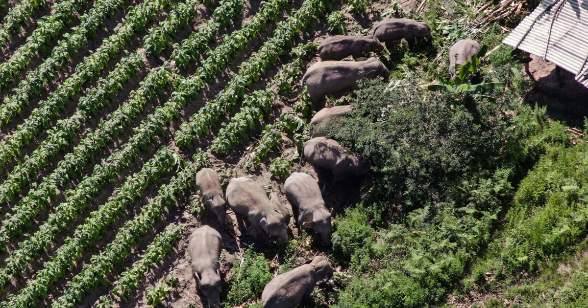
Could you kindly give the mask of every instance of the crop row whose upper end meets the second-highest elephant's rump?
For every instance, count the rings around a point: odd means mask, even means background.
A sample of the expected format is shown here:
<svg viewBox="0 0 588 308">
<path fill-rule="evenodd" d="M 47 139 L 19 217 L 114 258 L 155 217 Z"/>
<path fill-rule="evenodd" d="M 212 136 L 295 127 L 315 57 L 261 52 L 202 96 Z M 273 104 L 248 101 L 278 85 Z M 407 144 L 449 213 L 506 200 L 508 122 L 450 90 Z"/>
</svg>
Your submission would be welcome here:
<svg viewBox="0 0 588 308">
<path fill-rule="evenodd" d="M 218 135 L 212 141 L 211 151 L 226 154 L 249 138 L 249 131 L 258 126 L 259 120 L 268 113 L 273 100 L 278 96 L 276 91 L 283 87 L 292 87 L 292 82 L 298 82 L 300 75 L 302 75 L 302 56 L 308 53 L 308 50 L 316 50 L 315 43 L 311 42 L 306 45 L 292 49 L 295 58 L 283 65 L 276 73 L 276 76 L 273 77 L 275 82 L 268 83 L 265 90 L 257 90 L 251 95 L 245 95 L 241 110 L 231 117 L 229 123 L 222 124 L 223 127 L 220 128 Z"/>
</svg>

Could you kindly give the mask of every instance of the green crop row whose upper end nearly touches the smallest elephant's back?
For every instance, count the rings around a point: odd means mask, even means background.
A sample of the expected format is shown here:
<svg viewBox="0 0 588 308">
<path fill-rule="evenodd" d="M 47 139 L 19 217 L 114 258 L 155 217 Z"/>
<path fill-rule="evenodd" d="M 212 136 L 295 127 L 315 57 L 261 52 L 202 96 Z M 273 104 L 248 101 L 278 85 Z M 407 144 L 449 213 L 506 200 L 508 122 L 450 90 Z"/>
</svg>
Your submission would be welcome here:
<svg viewBox="0 0 588 308">
<path fill-rule="evenodd" d="M 104 277 L 113 270 L 114 265 L 124 262 L 131 254 L 132 248 L 140 242 L 141 237 L 151 231 L 155 222 L 161 219 L 165 208 L 175 207 L 178 197 L 183 197 L 186 190 L 192 187 L 196 172 L 210 164 L 205 153 L 197 153 L 193 160 L 194 162 L 173 177 L 168 185 L 159 188 L 157 197 L 141 207 L 141 214 L 125 222 L 114 241 L 109 243 L 104 251 L 92 256 L 91 262 L 83 266 L 81 272 L 68 283 L 64 295 L 52 304 L 53 308 L 74 307 L 75 302 L 81 301 L 105 279 Z M 27 305 L 15 306 L 27 307 Z"/>
</svg>

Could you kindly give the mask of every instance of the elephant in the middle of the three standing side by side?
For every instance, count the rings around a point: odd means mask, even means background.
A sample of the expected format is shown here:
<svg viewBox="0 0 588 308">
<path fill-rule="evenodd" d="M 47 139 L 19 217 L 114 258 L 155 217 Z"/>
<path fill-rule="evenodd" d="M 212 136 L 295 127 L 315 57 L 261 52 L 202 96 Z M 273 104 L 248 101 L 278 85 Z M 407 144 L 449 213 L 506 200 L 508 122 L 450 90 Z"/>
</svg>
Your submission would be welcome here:
<svg viewBox="0 0 588 308">
<path fill-rule="evenodd" d="M 232 178 L 226 187 L 226 201 L 235 212 L 239 231 L 245 232 L 245 218 L 255 228 L 257 235 L 269 236 L 288 241 L 290 212 L 285 208 L 278 194 L 270 198 L 262 187 L 249 178 Z"/>
</svg>

